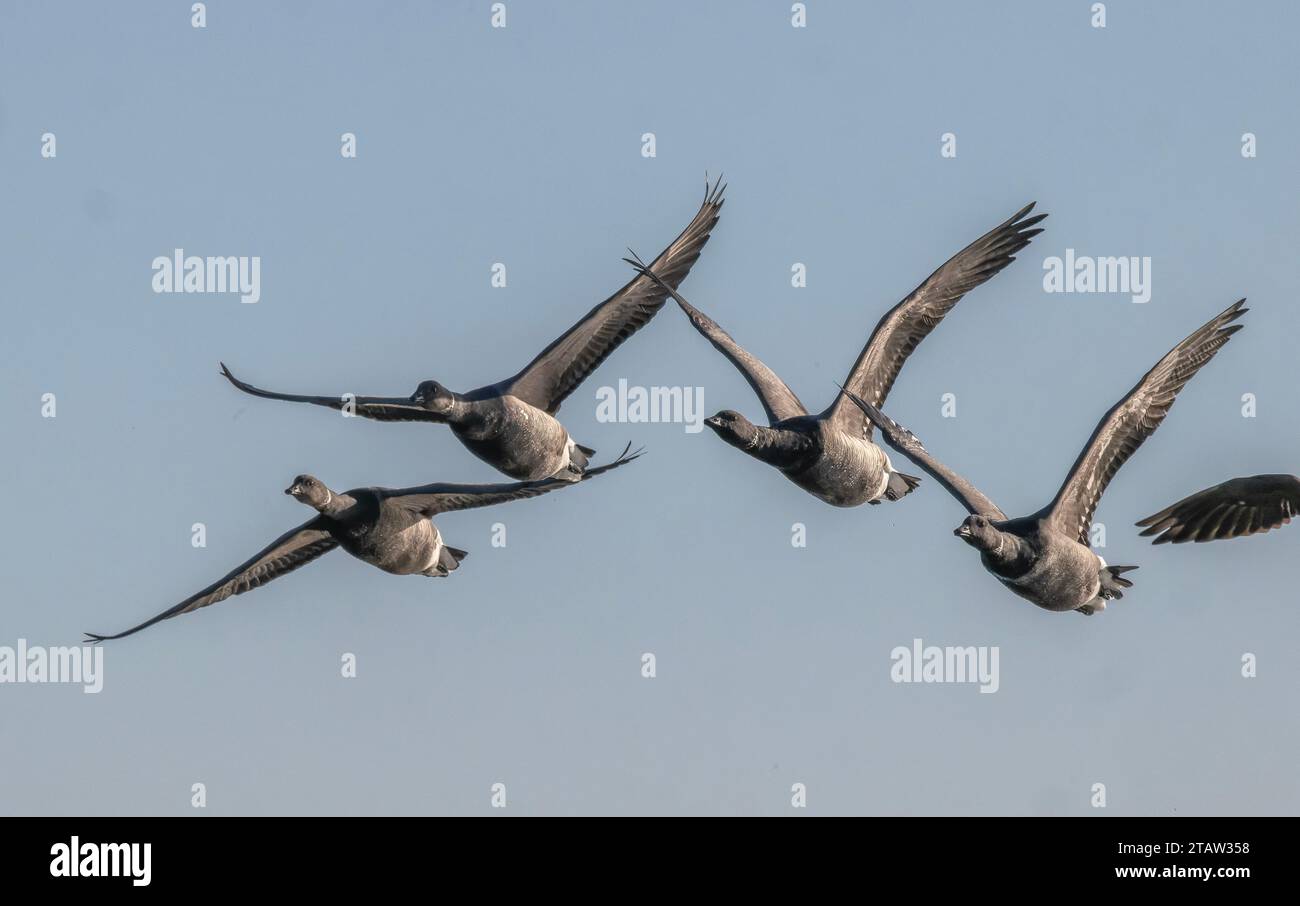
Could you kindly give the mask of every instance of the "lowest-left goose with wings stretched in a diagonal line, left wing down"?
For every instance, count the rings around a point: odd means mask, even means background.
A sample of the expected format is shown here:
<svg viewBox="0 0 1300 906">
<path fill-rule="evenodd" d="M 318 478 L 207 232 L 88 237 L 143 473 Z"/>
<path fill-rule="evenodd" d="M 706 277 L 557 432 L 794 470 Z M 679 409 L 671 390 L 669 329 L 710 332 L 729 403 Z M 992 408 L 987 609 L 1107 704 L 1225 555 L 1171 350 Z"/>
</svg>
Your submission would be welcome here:
<svg viewBox="0 0 1300 906">
<path fill-rule="evenodd" d="M 630 445 L 628 446 L 630 448 Z M 577 481 L 630 463 L 641 451 L 586 469 Z M 285 493 L 318 515 L 276 538 L 248 562 L 179 604 L 116 636 L 86 633 L 86 643 L 122 638 L 181 614 L 243 594 L 311 563 L 335 547 L 394 576 L 442 577 L 467 554 L 448 547 L 430 520 L 438 513 L 490 507 L 571 487 L 572 481 L 543 478 L 504 485 L 422 485 L 420 487 L 356 487 L 337 493 L 320 478 L 300 474 Z"/>
</svg>

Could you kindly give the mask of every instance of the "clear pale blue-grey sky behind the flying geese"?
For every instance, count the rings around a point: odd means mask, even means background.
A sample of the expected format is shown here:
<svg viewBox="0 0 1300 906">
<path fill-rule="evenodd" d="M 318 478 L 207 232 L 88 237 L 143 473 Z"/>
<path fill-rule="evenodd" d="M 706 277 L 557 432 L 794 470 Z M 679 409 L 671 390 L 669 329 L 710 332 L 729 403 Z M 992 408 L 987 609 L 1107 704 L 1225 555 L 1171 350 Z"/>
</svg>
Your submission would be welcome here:
<svg viewBox="0 0 1300 906">
<path fill-rule="evenodd" d="M 0 685 L 0 812 L 191 814 L 196 783 L 218 815 L 489 814 L 495 783 L 506 814 L 798 814 L 797 783 L 807 814 L 1300 809 L 1300 528 L 1132 526 L 1300 471 L 1295 4 L 1117 0 L 1105 29 L 1083 0 L 811 0 L 805 29 L 784 0 L 506 0 L 504 29 L 486 0 L 209 3 L 205 29 L 188 5 L 0 5 L 0 646 L 181 601 L 309 515 L 281 493 L 299 472 L 503 481 L 445 429 L 243 396 L 217 361 L 317 394 L 500 380 L 689 221 L 706 172 L 728 201 L 682 290 L 814 409 L 887 307 L 1050 212 L 885 406 L 1008 512 L 1174 343 L 1252 311 L 1101 502 L 1100 552 L 1141 569 L 1100 616 L 993 581 L 933 481 L 835 510 L 707 430 L 598 421 L 619 380 L 762 416 L 670 303 L 560 411 L 598 461 L 641 461 L 441 517 L 471 552 L 446 580 L 335 552 L 109 645 L 99 694 Z M 259 256 L 260 302 L 153 294 L 176 248 Z M 1149 256 L 1150 302 L 1045 292 L 1067 248 Z M 913 638 L 998 646 L 998 692 L 892 682 Z"/>
</svg>

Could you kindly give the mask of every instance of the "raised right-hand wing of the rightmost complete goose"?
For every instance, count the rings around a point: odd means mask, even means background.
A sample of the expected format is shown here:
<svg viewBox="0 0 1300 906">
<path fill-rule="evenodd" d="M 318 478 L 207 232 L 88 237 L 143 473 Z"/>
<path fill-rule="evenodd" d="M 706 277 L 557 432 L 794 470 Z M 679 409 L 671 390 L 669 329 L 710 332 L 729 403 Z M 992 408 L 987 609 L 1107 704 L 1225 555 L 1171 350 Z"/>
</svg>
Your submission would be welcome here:
<svg viewBox="0 0 1300 906">
<path fill-rule="evenodd" d="M 1245 299 L 1242 299 L 1228 305 L 1170 350 L 1106 413 L 1052 500 L 1048 519 L 1056 528 L 1076 538 L 1080 545 L 1088 545 L 1092 513 L 1106 485 L 1143 441 L 1156 433 L 1169 415 L 1178 391 L 1244 326 L 1232 324 L 1249 311 L 1243 308 L 1244 304 Z"/>
</svg>

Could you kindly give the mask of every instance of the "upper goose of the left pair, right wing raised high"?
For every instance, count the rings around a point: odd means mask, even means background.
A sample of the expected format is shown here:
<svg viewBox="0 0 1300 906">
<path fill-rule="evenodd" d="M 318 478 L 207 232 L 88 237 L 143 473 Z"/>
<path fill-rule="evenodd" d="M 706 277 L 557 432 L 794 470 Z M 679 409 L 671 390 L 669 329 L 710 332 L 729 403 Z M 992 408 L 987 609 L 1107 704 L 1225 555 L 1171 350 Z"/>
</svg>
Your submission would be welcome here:
<svg viewBox="0 0 1300 906">
<path fill-rule="evenodd" d="M 590 447 L 575 443 L 555 419 L 560 403 L 623 341 L 644 328 L 667 300 L 662 286 L 685 279 L 718 222 L 725 186 L 705 183 L 705 200 L 681 235 L 651 264 L 653 276 L 636 277 L 588 312 L 511 378 L 460 394 L 437 381 L 424 381 L 408 398 L 302 396 L 272 393 L 240 381 L 225 363 L 221 373 L 254 396 L 348 409 L 380 421 L 442 422 L 478 459 L 511 478 L 576 481 L 586 468 Z M 662 283 L 656 282 L 662 281 Z"/>
</svg>

